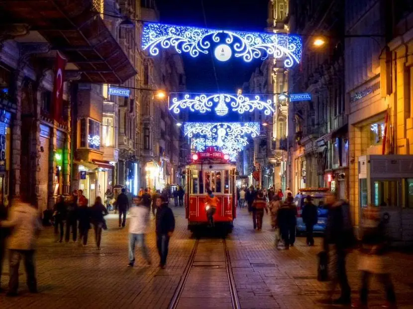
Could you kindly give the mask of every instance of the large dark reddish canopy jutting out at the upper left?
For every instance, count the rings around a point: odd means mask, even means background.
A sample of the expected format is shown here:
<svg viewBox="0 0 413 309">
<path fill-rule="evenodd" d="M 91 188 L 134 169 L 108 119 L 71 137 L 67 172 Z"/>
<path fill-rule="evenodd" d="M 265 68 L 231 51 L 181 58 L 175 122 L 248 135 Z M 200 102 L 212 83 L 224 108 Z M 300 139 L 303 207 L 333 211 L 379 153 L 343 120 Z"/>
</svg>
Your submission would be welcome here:
<svg viewBox="0 0 413 309">
<path fill-rule="evenodd" d="M 79 82 L 121 84 L 137 74 L 94 0 L 0 0 L 2 24 L 24 23 L 82 72 Z"/>
</svg>

